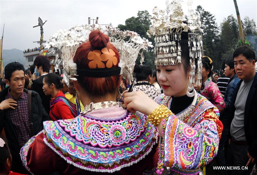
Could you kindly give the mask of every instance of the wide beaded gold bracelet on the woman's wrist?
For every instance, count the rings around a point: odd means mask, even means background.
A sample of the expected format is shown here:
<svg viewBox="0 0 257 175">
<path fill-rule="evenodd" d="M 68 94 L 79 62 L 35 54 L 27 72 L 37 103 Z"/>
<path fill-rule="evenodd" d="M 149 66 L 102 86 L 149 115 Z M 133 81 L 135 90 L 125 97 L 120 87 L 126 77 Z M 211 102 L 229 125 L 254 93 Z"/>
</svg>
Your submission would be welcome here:
<svg viewBox="0 0 257 175">
<path fill-rule="evenodd" d="M 173 113 L 166 106 L 160 105 L 148 115 L 146 124 L 148 124 L 148 122 L 152 122 L 154 126 L 158 126 L 164 117 L 172 114 Z"/>
</svg>

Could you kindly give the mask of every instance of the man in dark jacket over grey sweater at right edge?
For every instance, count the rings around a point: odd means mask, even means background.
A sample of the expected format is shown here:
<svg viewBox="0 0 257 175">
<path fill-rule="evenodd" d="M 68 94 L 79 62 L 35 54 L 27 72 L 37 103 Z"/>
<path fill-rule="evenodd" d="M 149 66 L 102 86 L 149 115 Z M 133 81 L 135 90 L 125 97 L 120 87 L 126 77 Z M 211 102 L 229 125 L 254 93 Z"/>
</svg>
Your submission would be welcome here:
<svg viewBox="0 0 257 175">
<path fill-rule="evenodd" d="M 234 68 L 241 79 L 232 96 L 229 166 L 248 166 L 247 170 L 233 170 L 232 174 L 250 174 L 257 158 L 257 74 L 255 53 L 247 46 L 234 53 Z"/>
</svg>

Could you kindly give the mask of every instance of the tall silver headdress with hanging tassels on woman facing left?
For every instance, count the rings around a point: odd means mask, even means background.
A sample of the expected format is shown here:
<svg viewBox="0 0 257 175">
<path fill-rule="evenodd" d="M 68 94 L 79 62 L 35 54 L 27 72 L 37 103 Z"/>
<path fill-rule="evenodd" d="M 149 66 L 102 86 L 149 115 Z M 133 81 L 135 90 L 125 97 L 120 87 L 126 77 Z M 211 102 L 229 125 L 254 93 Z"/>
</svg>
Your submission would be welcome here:
<svg viewBox="0 0 257 175">
<path fill-rule="evenodd" d="M 198 59 L 198 80 L 200 85 L 202 79 L 202 53 L 201 53 L 201 33 L 200 18 L 191 9 L 192 1 L 188 1 L 187 19 L 184 17 L 180 0 L 166 1 L 166 10 L 158 7 L 153 9 L 153 27 L 148 30 L 148 36 L 155 36 L 155 64 L 157 66 L 176 65 L 181 63 L 180 41 L 182 32 L 188 32 L 188 47 L 190 57 L 190 84 L 195 83 L 195 59 Z"/>
</svg>

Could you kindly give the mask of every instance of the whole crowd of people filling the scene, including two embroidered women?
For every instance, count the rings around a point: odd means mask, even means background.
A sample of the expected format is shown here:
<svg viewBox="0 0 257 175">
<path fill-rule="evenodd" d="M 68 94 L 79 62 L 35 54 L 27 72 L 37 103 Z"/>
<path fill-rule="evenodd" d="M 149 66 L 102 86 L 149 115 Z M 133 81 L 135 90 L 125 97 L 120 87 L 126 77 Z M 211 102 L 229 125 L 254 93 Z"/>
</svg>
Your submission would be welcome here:
<svg viewBox="0 0 257 175">
<path fill-rule="evenodd" d="M 255 52 L 238 47 L 219 75 L 190 35 L 168 34 L 174 46 L 156 34 L 156 48 L 162 40 L 181 55 L 164 57 L 167 51 L 158 48 L 156 70 L 135 65 L 131 91 L 120 75 L 118 49 L 99 30 L 77 48 L 69 78 L 49 73 L 43 55 L 27 70 L 7 64 L 1 174 L 202 174 L 215 157 L 218 166 L 247 167 L 229 174 L 254 173 Z"/>
</svg>

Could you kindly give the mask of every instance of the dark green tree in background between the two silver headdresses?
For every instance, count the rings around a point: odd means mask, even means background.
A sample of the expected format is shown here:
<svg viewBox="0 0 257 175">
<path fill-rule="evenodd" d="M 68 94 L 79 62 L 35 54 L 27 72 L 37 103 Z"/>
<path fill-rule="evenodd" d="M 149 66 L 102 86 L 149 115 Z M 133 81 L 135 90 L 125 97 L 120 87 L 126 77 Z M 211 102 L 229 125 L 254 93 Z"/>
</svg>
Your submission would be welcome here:
<svg viewBox="0 0 257 175">
<path fill-rule="evenodd" d="M 149 30 L 149 27 L 152 25 L 151 23 L 151 15 L 147 10 L 138 11 L 137 17 L 130 17 L 126 19 L 125 25 L 119 24 L 118 28 L 121 30 L 130 30 L 138 33 L 141 37 L 144 37 L 152 42 L 154 45 L 154 39 L 149 38 L 146 35 L 146 32 Z M 152 48 L 148 48 L 148 52 L 144 51 L 144 64 L 150 65 L 153 69 L 155 69 L 154 65 L 154 52 Z M 140 64 L 140 56 L 138 57 L 137 64 Z"/>
</svg>

